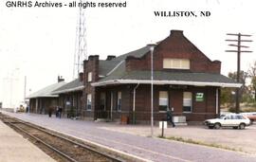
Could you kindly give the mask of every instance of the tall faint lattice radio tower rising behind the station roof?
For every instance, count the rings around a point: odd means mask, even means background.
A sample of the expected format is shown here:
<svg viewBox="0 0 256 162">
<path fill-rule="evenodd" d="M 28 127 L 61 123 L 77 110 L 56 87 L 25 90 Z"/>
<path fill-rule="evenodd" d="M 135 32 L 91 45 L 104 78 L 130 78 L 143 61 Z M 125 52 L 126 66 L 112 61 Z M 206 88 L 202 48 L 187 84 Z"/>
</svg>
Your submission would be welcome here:
<svg viewBox="0 0 256 162">
<path fill-rule="evenodd" d="M 80 3 L 82 4 L 82 0 Z M 79 8 L 79 19 L 76 29 L 73 79 L 77 78 L 78 74 L 83 71 L 83 60 L 85 59 L 87 59 L 85 9 L 82 9 L 81 5 Z"/>
</svg>

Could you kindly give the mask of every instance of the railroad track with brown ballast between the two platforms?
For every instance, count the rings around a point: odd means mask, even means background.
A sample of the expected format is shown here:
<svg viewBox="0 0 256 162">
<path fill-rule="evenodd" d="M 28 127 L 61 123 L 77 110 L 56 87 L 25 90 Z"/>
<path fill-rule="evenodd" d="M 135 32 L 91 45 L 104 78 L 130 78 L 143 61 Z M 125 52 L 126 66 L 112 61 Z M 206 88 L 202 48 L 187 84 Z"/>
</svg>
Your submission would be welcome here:
<svg viewBox="0 0 256 162">
<path fill-rule="evenodd" d="M 17 132 L 26 135 L 43 151 L 48 153 L 57 161 L 126 161 L 116 154 L 100 151 L 99 148 L 85 145 L 82 141 L 53 133 L 45 128 L 33 125 L 20 119 L 9 117 L 0 113 L 0 119 Z"/>
</svg>

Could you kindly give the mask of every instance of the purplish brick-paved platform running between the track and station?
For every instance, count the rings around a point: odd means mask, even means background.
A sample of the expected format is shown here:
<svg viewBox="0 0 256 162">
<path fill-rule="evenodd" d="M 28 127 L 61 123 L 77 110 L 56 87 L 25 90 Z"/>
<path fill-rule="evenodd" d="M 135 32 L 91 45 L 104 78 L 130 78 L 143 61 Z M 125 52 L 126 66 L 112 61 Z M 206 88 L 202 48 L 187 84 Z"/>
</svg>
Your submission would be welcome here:
<svg viewBox="0 0 256 162">
<path fill-rule="evenodd" d="M 45 115 L 7 114 L 67 135 L 73 135 L 84 140 L 99 143 L 123 153 L 134 154 L 145 159 L 145 161 L 256 161 L 256 156 L 247 153 L 230 152 L 170 140 L 118 133 L 105 129 L 106 127 L 117 127 L 117 129 L 125 127 L 119 124 L 96 123 L 93 121 L 71 120 L 67 118 L 49 118 Z"/>
</svg>

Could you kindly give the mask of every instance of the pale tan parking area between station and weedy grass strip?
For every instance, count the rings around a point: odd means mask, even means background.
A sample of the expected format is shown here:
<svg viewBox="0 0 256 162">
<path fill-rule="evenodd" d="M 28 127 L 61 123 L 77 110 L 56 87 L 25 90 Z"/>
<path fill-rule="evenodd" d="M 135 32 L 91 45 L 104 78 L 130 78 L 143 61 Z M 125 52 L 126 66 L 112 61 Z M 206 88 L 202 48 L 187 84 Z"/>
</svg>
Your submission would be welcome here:
<svg viewBox="0 0 256 162">
<path fill-rule="evenodd" d="M 112 130 L 120 133 L 133 135 L 150 135 L 149 125 L 125 125 L 119 127 L 105 127 L 106 130 Z M 207 144 L 219 144 L 223 147 L 232 148 L 244 153 L 256 155 L 256 123 L 250 125 L 245 130 L 234 130 L 232 128 L 221 128 L 219 130 L 209 129 L 204 125 L 177 126 L 173 128 L 170 124 L 165 130 L 164 135 L 182 137 L 183 139 L 192 139 Z M 154 135 L 161 135 L 161 130 L 155 128 Z"/>
</svg>

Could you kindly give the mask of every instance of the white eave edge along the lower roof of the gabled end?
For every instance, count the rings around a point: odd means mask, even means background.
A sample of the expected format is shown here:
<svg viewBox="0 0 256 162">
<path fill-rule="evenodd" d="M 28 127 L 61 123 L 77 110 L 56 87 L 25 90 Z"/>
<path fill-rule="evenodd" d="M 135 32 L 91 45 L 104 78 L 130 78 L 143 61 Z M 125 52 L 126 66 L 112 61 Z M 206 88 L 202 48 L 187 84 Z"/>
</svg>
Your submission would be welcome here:
<svg viewBox="0 0 256 162">
<path fill-rule="evenodd" d="M 91 83 L 92 86 L 103 86 L 110 84 L 127 84 L 127 83 L 140 83 L 140 84 L 150 84 L 151 80 L 109 80 L 109 81 L 99 81 Z M 241 83 L 229 83 L 229 82 L 208 82 L 208 81 L 157 81 L 154 80 L 155 85 L 164 84 L 176 84 L 176 85 L 194 85 L 194 86 L 218 86 L 218 87 L 230 87 L 239 88 L 242 86 Z"/>
</svg>

